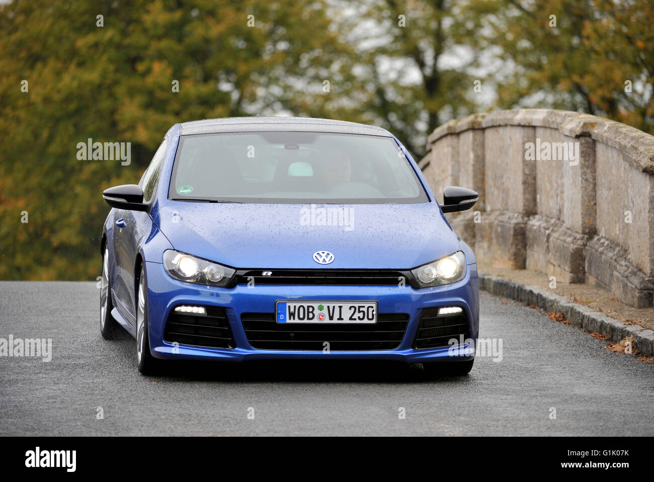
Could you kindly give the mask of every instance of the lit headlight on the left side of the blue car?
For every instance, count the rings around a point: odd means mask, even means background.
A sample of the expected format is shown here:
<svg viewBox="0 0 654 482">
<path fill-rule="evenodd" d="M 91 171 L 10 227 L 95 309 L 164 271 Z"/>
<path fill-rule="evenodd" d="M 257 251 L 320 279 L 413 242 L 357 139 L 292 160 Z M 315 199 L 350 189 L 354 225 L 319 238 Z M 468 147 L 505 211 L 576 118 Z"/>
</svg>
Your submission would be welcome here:
<svg viewBox="0 0 654 482">
<path fill-rule="evenodd" d="M 235 270 L 222 264 L 196 258 L 190 254 L 167 249 L 163 252 L 163 267 L 171 277 L 189 283 L 225 286 Z"/>
</svg>

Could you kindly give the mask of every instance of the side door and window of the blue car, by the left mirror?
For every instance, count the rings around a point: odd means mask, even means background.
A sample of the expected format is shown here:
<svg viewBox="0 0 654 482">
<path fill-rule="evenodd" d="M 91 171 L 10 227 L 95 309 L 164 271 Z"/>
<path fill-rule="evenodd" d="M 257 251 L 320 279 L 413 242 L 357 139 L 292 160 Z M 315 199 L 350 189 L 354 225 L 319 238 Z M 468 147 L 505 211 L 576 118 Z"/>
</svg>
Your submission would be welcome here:
<svg viewBox="0 0 654 482">
<path fill-rule="evenodd" d="M 156 186 L 161 174 L 163 158 L 168 146 L 168 137 L 164 137 L 161 145 L 154 153 L 154 157 L 139 182 L 143 189 L 143 202 L 152 203 L 156 193 Z M 118 233 L 118 260 L 122 276 L 123 305 L 128 311 L 128 320 L 136 324 L 136 282 L 135 266 L 136 255 L 143 239 L 152 230 L 152 218 L 143 211 L 124 211 L 124 226 Z"/>
</svg>

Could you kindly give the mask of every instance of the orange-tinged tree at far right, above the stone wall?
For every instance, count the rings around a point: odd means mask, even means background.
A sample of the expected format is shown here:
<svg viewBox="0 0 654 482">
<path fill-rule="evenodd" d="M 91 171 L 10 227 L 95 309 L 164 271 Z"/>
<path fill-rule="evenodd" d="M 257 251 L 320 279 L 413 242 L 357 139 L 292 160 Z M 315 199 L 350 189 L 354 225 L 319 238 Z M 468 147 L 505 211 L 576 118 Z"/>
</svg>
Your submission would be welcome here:
<svg viewBox="0 0 654 482">
<path fill-rule="evenodd" d="M 504 0 L 485 22 L 506 69 L 500 108 L 587 112 L 654 133 L 654 5 L 649 0 Z"/>
</svg>

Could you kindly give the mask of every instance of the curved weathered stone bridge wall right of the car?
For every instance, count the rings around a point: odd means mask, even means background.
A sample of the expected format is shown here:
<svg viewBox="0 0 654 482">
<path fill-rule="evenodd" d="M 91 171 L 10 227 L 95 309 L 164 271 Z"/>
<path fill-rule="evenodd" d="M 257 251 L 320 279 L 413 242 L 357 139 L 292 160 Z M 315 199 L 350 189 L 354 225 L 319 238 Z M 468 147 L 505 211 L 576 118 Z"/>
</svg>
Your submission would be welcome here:
<svg viewBox="0 0 654 482">
<path fill-rule="evenodd" d="M 443 187 L 479 192 L 447 217 L 483 266 L 533 269 L 604 286 L 635 307 L 654 293 L 654 136 L 549 109 L 443 124 L 419 163 Z"/>
</svg>

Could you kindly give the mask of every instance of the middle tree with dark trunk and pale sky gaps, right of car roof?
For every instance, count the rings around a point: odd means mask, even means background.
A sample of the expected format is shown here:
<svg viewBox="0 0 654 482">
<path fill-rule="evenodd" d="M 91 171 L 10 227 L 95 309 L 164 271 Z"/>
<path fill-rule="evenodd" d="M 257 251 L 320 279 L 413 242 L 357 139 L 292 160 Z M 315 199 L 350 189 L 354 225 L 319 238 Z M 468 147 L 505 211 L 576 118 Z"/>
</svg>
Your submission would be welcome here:
<svg viewBox="0 0 654 482">
<path fill-rule="evenodd" d="M 358 50 L 362 118 L 400 137 L 418 157 L 426 136 L 477 110 L 481 48 L 475 41 L 492 5 L 467 0 L 354 3 L 348 41 Z M 475 83 L 475 80 L 478 81 Z"/>
</svg>

